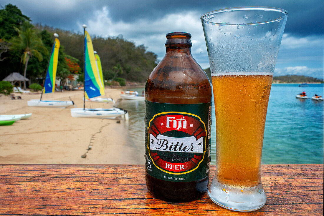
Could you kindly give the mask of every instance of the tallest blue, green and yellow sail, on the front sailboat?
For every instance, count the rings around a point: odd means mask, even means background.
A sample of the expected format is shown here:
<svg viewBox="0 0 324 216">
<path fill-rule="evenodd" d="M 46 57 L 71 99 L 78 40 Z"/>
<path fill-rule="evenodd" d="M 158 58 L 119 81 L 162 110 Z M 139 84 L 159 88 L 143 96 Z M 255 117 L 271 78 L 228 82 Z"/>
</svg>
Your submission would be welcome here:
<svg viewBox="0 0 324 216">
<path fill-rule="evenodd" d="M 104 95 L 105 91 L 98 75 L 92 41 L 86 30 L 84 32 L 84 53 L 85 98 Z"/>
</svg>

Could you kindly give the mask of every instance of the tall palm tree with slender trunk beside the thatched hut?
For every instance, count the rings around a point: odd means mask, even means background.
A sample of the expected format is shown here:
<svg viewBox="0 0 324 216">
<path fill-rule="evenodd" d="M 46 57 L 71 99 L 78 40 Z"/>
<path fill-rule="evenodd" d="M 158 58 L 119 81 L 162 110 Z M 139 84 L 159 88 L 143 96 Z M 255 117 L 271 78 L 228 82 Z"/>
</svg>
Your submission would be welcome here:
<svg viewBox="0 0 324 216">
<path fill-rule="evenodd" d="M 24 76 L 26 77 L 27 65 L 29 58 L 35 56 L 38 61 L 43 61 L 43 56 L 40 51 L 47 52 L 47 49 L 43 45 L 41 38 L 37 35 L 36 31 L 30 27 L 29 23 L 18 29 L 18 36 L 12 40 L 11 47 L 16 50 L 22 50 L 20 62 L 25 64 Z M 26 81 L 24 81 L 24 89 L 26 89 Z"/>
</svg>

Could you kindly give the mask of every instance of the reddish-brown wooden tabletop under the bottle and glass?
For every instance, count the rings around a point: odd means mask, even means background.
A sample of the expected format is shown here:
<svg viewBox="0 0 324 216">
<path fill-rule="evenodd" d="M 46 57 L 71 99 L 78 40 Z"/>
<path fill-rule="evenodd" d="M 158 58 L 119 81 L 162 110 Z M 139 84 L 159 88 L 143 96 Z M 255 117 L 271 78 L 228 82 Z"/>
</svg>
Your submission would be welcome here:
<svg viewBox="0 0 324 216">
<path fill-rule="evenodd" d="M 154 198 L 144 165 L 0 165 L 0 215 L 323 215 L 323 165 L 262 165 L 261 176 L 266 205 L 235 212 L 207 194 Z"/>
</svg>

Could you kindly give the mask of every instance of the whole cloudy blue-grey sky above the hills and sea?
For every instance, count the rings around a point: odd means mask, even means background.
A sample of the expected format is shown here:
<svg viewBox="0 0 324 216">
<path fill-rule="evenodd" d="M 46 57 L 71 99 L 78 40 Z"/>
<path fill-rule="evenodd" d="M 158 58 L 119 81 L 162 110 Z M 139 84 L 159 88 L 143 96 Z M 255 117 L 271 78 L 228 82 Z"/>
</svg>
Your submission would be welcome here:
<svg viewBox="0 0 324 216">
<path fill-rule="evenodd" d="M 238 6 L 270 6 L 288 11 L 275 75 L 324 76 L 323 0 L 0 0 L 0 6 L 16 5 L 33 23 L 91 35 L 144 44 L 161 60 L 168 32 L 189 32 L 192 55 L 209 67 L 200 17 L 213 10 Z"/>
</svg>

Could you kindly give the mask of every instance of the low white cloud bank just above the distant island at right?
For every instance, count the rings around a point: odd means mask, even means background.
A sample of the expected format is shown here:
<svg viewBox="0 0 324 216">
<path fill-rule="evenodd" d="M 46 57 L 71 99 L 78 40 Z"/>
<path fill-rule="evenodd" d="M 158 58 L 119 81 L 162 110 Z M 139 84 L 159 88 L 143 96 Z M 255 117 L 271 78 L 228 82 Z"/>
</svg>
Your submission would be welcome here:
<svg viewBox="0 0 324 216">
<path fill-rule="evenodd" d="M 294 67 L 285 67 L 285 68 L 275 68 L 275 76 L 281 75 L 304 75 L 312 76 L 317 78 L 324 78 L 323 68 L 308 68 L 307 66 L 294 66 Z"/>
</svg>

